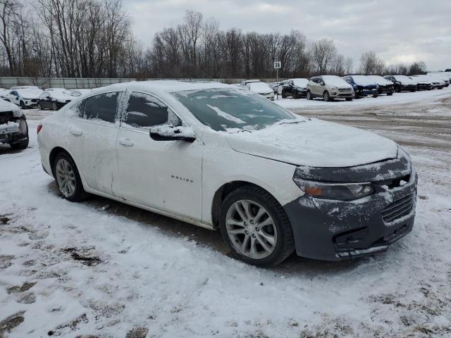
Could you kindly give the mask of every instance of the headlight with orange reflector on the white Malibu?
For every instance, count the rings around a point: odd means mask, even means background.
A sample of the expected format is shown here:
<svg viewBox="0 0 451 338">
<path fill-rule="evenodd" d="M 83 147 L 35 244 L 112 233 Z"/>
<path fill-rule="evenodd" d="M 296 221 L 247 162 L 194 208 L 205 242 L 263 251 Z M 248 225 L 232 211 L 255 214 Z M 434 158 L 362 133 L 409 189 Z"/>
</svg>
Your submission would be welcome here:
<svg viewBox="0 0 451 338">
<path fill-rule="evenodd" d="M 316 199 L 335 199 L 340 201 L 352 201 L 373 194 L 371 183 L 326 183 L 302 180 L 293 177 L 299 188 L 307 195 Z"/>
</svg>

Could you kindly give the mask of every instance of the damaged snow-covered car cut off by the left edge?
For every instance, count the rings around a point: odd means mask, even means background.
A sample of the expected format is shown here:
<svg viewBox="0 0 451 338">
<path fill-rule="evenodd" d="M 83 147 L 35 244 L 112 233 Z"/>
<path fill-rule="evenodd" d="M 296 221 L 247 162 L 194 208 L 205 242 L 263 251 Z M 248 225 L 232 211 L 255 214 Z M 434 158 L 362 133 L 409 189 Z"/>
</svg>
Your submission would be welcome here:
<svg viewBox="0 0 451 338">
<path fill-rule="evenodd" d="M 28 125 L 23 112 L 15 104 L 0 99 L 0 143 L 13 149 L 28 146 Z"/>
</svg>

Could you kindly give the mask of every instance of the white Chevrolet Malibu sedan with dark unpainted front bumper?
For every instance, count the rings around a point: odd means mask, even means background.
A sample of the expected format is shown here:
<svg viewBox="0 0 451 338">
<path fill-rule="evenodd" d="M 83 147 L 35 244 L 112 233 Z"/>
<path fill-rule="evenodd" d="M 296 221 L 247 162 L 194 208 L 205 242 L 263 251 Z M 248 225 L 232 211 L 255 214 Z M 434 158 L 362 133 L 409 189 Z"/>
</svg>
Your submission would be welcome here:
<svg viewBox="0 0 451 338">
<path fill-rule="evenodd" d="M 92 193 L 221 230 L 254 265 L 374 254 L 414 224 L 416 173 L 395 142 L 233 85 L 113 84 L 44 118 L 37 141 L 68 201 Z"/>
</svg>

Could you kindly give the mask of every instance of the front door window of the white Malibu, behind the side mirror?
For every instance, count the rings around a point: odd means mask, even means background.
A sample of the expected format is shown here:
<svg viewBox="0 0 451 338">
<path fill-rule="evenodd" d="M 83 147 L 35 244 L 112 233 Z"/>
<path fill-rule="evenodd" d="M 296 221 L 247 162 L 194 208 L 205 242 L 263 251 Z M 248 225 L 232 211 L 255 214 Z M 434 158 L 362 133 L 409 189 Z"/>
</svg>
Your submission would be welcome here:
<svg viewBox="0 0 451 338">
<path fill-rule="evenodd" d="M 128 101 L 126 123 L 132 127 L 181 125 L 181 121 L 166 104 L 148 94 L 133 92 Z"/>
</svg>

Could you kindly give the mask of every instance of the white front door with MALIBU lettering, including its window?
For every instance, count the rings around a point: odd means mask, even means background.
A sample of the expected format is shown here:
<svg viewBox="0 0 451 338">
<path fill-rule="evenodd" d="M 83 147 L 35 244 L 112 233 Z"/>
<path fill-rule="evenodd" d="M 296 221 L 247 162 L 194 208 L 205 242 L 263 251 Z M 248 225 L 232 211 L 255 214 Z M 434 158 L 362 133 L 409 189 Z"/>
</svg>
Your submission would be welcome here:
<svg viewBox="0 0 451 338">
<path fill-rule="evenodd" d="M 201 220 L 202 142 L 151 139 L 150 127 L 183 123 L 149 94 L 130 93 L 124 115 L 117 144 L 118 194 L 137 204 Z"/>
</svg>

